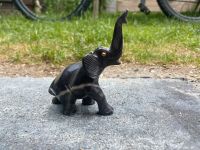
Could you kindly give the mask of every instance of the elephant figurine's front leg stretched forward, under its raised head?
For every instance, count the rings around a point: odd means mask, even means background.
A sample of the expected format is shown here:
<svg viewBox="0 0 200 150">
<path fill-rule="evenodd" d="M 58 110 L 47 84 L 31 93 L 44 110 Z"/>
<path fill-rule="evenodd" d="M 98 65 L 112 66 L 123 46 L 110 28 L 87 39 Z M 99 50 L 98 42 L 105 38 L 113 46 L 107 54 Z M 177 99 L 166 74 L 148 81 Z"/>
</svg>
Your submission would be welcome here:
<svg viewBox="0 0 200 150">
<path fill-rule="evenodd" d="M 87 95 L 98 104 L 99 112 L 97 114 L 103 116 L 113 114 L 114 109 L 106 101 L 106 97 L 100 87 L 90 87 L 89 90 L 87 89 L 86 91 L 88 91 L 86 92 Z"/>
</svg>

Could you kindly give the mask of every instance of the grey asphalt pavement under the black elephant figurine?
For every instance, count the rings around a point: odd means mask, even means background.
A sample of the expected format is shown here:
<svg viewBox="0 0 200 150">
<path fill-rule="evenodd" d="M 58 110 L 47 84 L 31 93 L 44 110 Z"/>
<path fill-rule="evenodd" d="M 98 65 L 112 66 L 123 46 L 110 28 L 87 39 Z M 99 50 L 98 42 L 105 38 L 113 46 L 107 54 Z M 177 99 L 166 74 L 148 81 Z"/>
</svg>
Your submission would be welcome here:
<svg viewBox="0 0 200 150">
<path fill-rule="evenodd" d="M 200 84 L 178 79 L 101 79 L 112 116 L 97 105 L 62 115 L 53 78 L 0 78 L 0 150 L 199 150 Z"/>
</svg>

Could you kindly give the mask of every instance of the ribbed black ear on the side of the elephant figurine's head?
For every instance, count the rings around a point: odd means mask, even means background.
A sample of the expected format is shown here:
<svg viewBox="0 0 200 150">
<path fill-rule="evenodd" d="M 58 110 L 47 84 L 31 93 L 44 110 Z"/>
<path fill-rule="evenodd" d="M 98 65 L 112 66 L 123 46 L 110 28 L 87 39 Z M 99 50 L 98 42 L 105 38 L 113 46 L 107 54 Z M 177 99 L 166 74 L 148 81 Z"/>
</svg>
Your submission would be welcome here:
<svg viewBox="0 0 200 150">
<path fill-rule="evenodd" d="M 88 54 L 82 60 L 83 67 L 90 78 L 96 79 L 101 74 L 100 63 L 97 57 Z"/>
</svg>

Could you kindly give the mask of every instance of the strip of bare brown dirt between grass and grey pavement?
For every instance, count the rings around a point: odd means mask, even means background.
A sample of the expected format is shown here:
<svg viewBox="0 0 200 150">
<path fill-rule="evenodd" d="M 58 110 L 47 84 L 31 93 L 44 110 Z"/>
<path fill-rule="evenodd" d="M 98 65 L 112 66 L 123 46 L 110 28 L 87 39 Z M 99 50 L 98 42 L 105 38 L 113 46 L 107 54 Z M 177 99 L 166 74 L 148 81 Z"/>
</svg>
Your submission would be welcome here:
<svg viewBox="0 0 200 150">
<path fill-rule="evenodd" d="M 13 64 L 9 62 L 0 63 L 0 76 L 19 77 L 55 77 L 65 66 L 55 67 L 50 64 L 28 65 Z M 200 68 L 196 66 L 180 65 L 138 65 L 121 64 L 110 66 L 101 75 L 103 78 L 177 78 L 200 82 Z"/>
</svg>

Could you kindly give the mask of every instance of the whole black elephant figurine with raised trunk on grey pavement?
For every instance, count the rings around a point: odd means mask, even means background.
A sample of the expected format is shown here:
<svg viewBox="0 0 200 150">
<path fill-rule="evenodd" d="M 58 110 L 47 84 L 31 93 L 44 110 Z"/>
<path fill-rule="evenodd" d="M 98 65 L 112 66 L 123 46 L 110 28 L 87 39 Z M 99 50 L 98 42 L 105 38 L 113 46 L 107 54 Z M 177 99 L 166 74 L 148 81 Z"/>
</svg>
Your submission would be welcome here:
<svg viewBox="0 0 200 150">
<path fill-rule="evenodd" d="M 76 112 L 76 100 L 82 99 L 82 105 L 98 104 L 99 115 L 113 114 L 99 86 L 99 76 L 105 67 L 119 65 L 123 49 L 122 24 L 127 23 L 128 11 L 116 21 L 110 48 L 98 47 L 82 61 L 69 65 L 51 83 L 49 93 L 54 96 L 53 104 L 63 105 L 63 114 Z"/>
</svg>

